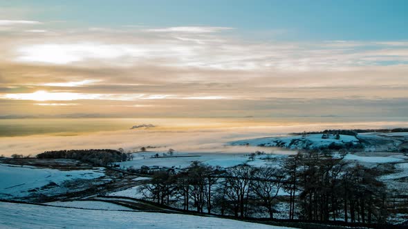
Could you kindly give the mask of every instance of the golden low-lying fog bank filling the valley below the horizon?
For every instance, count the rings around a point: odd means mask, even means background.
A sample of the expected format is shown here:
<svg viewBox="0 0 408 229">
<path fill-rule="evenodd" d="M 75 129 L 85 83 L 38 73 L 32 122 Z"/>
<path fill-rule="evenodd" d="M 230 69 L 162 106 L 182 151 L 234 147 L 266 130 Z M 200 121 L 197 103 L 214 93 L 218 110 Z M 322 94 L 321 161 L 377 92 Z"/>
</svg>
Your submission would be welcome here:
<svg viewBox="0 0 408 229">
<path fill-rule="evenodd" d="M 20 128 L 24 125 L 19 120 Z M 109 119 L 92 119 L 84 121 L 83 119 L 64 119 L 62 127 L 84 125 L 84 123 L 100 123 L 109 121 Z M 5 120 L 3 126 L 5 126 Z M 6 120 L 12 130 L 13 120 Z M 146 123 L 146 121 L 149 121 Z M 26 120 L 28 129 L 33 130 L 30 123 L 34 123 L 36 128 L 41 127 L 46 120 L 32 119 Z M 53 121 L 51 121 L 53 122 Z M 55 121 L 54 121 L 55 122 Z M 68 123 L 67 123 L 68 122 Z M 140 124 L 153 124 L 154 128 L 136 128 L 129 130 L 132 126 Z M 53 123 L 55 128 L 57 124 Z M 106 126 L 106 125 L 105 125 Z M 75 131 L 69 133 L 65 131 L 60 135 L 54 132 L 40 132 L 41 135 L 0 137 L 0 155 L 10 156 L 12 154 L 37 155 L 46 150 L 65 150 L 65 149 L 89 149 L 89 148 L 111 148 L 124 150 L 138 150 L 141 147 L 153 146 L 154 149 L 165 151 L 173 148 L 179 152 L 254 152 L 261 150 L 265 152 L 288 153 L 285 150 L 276 148 L 254 148 L 246 146 L 226 146 L 229 141 L 239 139 L 249 139 L 257 137 L 270 137 L 277 135 L 286 135 L 290 132 L 303 132 L 340 129 L 340 128 L 391 128 L 398 126 L 407 126 L 407 123 L 397 122 L 367 122 L 367 123 L 295 123 L 295 122 L 271 122 L 271 121 L 240 121 L 234 119 L 223 121 L 221 119 L 127 119 L 121 122 L 118 127 L 121 130 L 112 130 L 112 128 L 101 128 L 98 132 Z M 43 128 L 43 129 L 44 129 Z M 76 127 L 77 128 L 77 127 Z M 115 128 L 113 128 L 115 129 Z M 109 131 L 106 131 L 109 130 Z M 4 133 L 3 133 L 3 136 Z M 7 136 L 7 135 L 6 135 Z M 10 135 L 11 136 L 11 135 Z"/>
</svg>

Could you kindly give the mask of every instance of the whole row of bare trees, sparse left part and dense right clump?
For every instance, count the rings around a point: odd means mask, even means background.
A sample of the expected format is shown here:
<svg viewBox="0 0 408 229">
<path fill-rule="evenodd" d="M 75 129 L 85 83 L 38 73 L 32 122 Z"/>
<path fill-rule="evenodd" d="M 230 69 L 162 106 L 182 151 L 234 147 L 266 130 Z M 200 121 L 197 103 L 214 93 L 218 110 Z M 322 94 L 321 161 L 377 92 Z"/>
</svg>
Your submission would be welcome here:
<svg viewBox="0 0 408 229">
<path fill-rule="evenodd" d="M 288 219 L 383 223 L 387 190 L 378 175 L 339 156 L 303 152 L 260 168 L 193 162 L 181 172 L 156 172 L 141 190 L 147 199 L 196 212 L 272 219 L 282 203 Z"/>
</svg>

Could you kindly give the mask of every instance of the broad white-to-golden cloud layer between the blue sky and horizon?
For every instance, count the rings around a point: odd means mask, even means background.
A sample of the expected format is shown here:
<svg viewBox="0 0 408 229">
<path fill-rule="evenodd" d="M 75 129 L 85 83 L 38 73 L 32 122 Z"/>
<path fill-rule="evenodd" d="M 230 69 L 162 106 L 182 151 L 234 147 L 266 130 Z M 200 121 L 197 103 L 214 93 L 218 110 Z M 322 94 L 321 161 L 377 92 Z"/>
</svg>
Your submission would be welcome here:
<svg viewBox="0 0 408 229">
<path fill-rule="evenodd" d="M 385 104 L 408 98 L 404 41 L 257 41 L 224 30 L 5 32 L 2 110 L 6 115 L 92 110 L 126 117 L 341 116 L 360 105 L 367 107 L 360 115 L 398 116 L 406 110 L 402 102 Z M 383 111 L 356 99 L 384 102 Z M 80 104 L 33 106 L 33 101 Z"/>
</svg>

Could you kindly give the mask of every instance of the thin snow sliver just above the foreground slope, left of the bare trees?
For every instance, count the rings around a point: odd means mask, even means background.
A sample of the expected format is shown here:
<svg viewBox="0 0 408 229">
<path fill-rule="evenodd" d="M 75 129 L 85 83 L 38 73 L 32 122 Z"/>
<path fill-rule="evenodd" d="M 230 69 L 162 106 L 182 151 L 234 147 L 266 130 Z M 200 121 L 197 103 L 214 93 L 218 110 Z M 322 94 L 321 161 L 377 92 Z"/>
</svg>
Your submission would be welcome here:
<svg viewBox="0 0 408 229">
<path fill-rule="evenodd" d="M 104 201 L 55 201 L 45 203 L 50 206 L 62 206 L 70 208 L 86 208 L 95 210 L 131 210 L 131 208 L 126 208 L 114 203 L 108 203 Z"/>
</svg>

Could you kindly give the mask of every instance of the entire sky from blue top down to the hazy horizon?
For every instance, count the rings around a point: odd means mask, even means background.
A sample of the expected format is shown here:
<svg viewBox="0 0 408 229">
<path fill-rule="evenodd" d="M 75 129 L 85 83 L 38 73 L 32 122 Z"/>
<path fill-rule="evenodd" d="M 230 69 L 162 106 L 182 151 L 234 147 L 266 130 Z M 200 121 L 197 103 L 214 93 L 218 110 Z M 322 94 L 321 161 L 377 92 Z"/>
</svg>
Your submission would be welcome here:
<svg viewBox="0 0 408 229">
<path fill-rule="evenodd" d="M 407 1 L 0 1 L 0 116 L 405 117 Z"/>
</svg>

